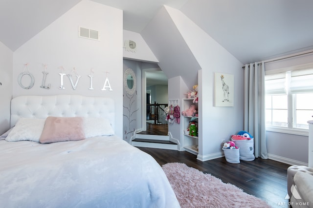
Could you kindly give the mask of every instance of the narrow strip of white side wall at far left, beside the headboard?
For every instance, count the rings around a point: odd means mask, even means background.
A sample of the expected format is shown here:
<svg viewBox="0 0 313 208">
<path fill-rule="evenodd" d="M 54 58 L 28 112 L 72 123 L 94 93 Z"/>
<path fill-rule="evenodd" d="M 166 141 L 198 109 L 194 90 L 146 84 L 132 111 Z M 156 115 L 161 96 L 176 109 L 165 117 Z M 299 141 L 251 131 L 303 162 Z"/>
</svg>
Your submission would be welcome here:
<svg viewBox="0 0 313 208">
<path fill-rule="evenodd" d="M 0 42 L 0 135 L 10 128 L 13 52 Z"/>
</svg>

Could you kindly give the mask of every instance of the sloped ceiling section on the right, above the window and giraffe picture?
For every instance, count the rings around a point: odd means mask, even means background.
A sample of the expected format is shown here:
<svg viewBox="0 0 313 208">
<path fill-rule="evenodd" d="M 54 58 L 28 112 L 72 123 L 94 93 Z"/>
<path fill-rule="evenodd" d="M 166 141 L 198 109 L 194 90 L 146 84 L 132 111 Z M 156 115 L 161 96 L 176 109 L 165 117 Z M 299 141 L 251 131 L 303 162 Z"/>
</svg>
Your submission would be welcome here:
<svg viewBox="0 0 313 208">
<path fill-rule="evenodd" d="M 179 10 L 242 63 L 313 49 L 312 0 L 188 0 Z"/>
</svg>

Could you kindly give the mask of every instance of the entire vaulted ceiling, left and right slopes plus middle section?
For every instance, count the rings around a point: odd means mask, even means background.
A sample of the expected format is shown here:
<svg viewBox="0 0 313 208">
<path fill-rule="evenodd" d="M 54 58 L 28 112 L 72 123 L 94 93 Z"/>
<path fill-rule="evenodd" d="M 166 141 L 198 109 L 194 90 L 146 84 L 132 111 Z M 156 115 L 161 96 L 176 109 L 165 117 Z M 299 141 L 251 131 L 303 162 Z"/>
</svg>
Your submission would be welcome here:
<svg viewBox="0 0 313 208">
<path fill-rule="evenodd" d="M 80 1 L 1 0 L 0 42 L 15 51 Z M 313 49 L 312 0 L 94 1 L 123 10 L 137 33 L 163 4 L 179 9 L 242 63 Z"/>
</svg>

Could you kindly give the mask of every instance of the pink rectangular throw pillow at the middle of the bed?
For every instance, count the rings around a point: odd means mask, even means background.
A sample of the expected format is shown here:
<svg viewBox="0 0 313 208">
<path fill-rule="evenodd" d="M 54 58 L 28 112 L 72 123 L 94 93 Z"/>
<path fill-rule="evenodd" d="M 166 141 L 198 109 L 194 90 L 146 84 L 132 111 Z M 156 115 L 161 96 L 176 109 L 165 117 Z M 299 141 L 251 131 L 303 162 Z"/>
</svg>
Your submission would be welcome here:
<svg viewBox="0 0 313 208">
<path fill-rule="evenodd" d="M 78 141 L 85 138 L 83 117 L 48 117 L 39 142 Z"/>
</svg>

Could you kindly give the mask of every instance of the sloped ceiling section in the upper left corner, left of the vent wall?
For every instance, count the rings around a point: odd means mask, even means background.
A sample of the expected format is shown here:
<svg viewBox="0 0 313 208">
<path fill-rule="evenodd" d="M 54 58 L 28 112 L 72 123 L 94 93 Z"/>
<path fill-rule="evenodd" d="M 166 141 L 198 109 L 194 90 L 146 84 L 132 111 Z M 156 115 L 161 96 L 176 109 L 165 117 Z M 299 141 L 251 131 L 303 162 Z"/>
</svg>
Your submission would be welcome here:
<svg viewBox="0 0 313 208">
<path fill-rule="evenodd" d="M 80 1 L 2 0 L 0 41 L 15 51 Z"/>
</svg>

